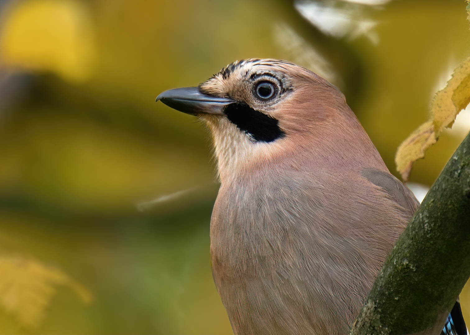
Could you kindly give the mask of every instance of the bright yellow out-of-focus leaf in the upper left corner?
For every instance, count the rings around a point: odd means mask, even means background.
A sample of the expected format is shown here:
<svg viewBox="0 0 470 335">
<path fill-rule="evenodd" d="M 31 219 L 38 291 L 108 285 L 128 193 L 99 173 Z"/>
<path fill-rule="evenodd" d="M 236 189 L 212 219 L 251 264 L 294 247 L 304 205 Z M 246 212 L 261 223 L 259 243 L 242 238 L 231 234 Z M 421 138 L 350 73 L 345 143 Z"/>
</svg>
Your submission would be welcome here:
<svg viewBox="0 0 470 335">
<path fill-rule="evenodd" d="M 80 83 L 93 74 L 94 31 L 83 3 L 30 0 L 11 8 L 0 38 L 2 65 L 55 72 Z"/>
</svg>

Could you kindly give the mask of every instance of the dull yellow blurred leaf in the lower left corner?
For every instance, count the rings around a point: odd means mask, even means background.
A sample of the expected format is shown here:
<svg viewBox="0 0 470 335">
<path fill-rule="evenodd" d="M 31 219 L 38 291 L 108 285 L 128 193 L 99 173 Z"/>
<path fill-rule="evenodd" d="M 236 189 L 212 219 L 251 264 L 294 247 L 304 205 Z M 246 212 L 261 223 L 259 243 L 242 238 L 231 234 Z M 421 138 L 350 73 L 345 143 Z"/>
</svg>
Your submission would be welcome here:
<svg viewBox="0 0 470 335">
<path fill-rule="evenodd" d="M 93 295 L 61 270 L 23 257 L 0 257 L 0 305 L 23 327 L 36 327 L 55 293 L 55 285 L 67 285 L 84 303 Z"/>
</svg>

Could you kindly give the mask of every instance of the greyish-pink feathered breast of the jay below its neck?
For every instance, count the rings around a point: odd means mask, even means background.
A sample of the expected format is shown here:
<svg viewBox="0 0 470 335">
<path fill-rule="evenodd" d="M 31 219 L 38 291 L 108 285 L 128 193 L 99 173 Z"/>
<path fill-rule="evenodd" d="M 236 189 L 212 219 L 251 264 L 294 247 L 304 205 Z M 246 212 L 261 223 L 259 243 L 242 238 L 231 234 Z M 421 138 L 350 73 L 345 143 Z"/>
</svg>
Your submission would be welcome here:
<svg viewBox="0 0 470 335">
<path fill-rule="evenodd" d="M 380 224 L 366 199 L 392 203 L 367 179 L 315 172 L 325 177 L 260 169 L 220 187 L 212 269 L 237 334 L 347 333 L 406 225 L 393 215 Z"/>
</svg>

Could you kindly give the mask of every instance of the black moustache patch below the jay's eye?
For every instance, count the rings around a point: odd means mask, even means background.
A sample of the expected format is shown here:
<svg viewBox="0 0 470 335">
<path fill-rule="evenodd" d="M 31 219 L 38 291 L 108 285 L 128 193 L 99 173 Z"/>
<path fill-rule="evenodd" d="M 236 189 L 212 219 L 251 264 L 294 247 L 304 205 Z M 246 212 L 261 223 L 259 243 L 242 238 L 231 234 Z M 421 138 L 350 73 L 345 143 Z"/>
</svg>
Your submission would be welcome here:
<svg viewBox="0 0 470 335">
<path fill-rule="evenodd" d="M 285 136 L 285 133 L 279 128 L 277 119 L 251 108 L 244 102 L 228 105 L 224 113 L 230 122 L 250 135 L 256 142 L 272 142 Z"/>
</svg>

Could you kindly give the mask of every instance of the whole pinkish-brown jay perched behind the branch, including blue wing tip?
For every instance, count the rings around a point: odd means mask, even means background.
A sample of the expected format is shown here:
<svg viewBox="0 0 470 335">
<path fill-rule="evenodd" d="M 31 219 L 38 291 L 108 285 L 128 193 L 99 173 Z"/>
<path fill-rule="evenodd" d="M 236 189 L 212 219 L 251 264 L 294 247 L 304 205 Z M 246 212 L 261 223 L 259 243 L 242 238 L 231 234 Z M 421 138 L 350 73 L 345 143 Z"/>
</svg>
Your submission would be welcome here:
<svg viewBox="0 0 470 335">
<path fill-rule="evenodd" d="M 344 95 L 251 59 L 157 100 L 211 129 L 212 273 L 235 334 L 347 334 L 419 202 Z M 443 333 L 467 334 L 458 303 Z"/>
</svg>

